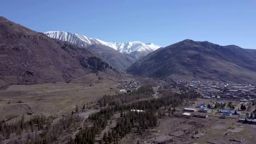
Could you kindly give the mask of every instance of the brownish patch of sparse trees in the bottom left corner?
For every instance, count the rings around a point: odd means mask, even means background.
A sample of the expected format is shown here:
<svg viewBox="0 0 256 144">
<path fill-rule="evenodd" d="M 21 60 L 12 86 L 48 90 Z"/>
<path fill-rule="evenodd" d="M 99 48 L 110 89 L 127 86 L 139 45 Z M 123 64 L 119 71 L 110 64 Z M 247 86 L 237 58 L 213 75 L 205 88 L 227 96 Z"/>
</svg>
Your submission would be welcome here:
<svg viewBox="0 0 256 144">
<path fill-rule="evenodd" d="M 16 123 L 7 124 L 0 122 L 0 143 L 3 139 L 15 137 L 18 135 L 23 137 L 16 140 L 18 143 L 52 143 L 57 141 L 63 131 L 73 127 L 75 123 L 80 122 L 77 115 L 63 116 L 56 123 L 53 123 L 55 117 L 35 116 L 25 122 L 24 116 Z"/>
</svg>

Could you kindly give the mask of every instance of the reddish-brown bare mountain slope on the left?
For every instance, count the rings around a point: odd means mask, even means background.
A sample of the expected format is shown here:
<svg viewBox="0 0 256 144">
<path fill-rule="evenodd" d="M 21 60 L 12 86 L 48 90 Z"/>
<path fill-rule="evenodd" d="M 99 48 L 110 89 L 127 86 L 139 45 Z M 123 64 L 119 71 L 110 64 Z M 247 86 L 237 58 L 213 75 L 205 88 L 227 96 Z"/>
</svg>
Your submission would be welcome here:
<svg viewBox="0 0 256 144">
<path fill-rule="evenodd" d="M 70 81 L 95 71 L 118 73 L 89 50 L 0 17 L 0 87 Z"/>
</svg>

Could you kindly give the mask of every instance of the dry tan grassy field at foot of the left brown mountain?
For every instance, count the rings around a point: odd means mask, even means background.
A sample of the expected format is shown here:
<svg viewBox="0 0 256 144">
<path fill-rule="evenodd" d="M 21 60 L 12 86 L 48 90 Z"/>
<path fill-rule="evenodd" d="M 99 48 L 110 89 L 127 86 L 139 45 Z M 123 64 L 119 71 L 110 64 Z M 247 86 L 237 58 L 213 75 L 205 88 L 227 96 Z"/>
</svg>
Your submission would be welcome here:
<svg viewBox="0 0 256 144">
<path fill-rule="evenodd" d="M 116 87 L 118 79 L 102 73 L 84 75 L 69 83 L 9 86 L 0 90 L 0 119 L 15 121 L 23 114 L 29 117 L 71 113 L 76 105 L 92 106 L 104 94 L 114 94 Z"/>
</svg>

